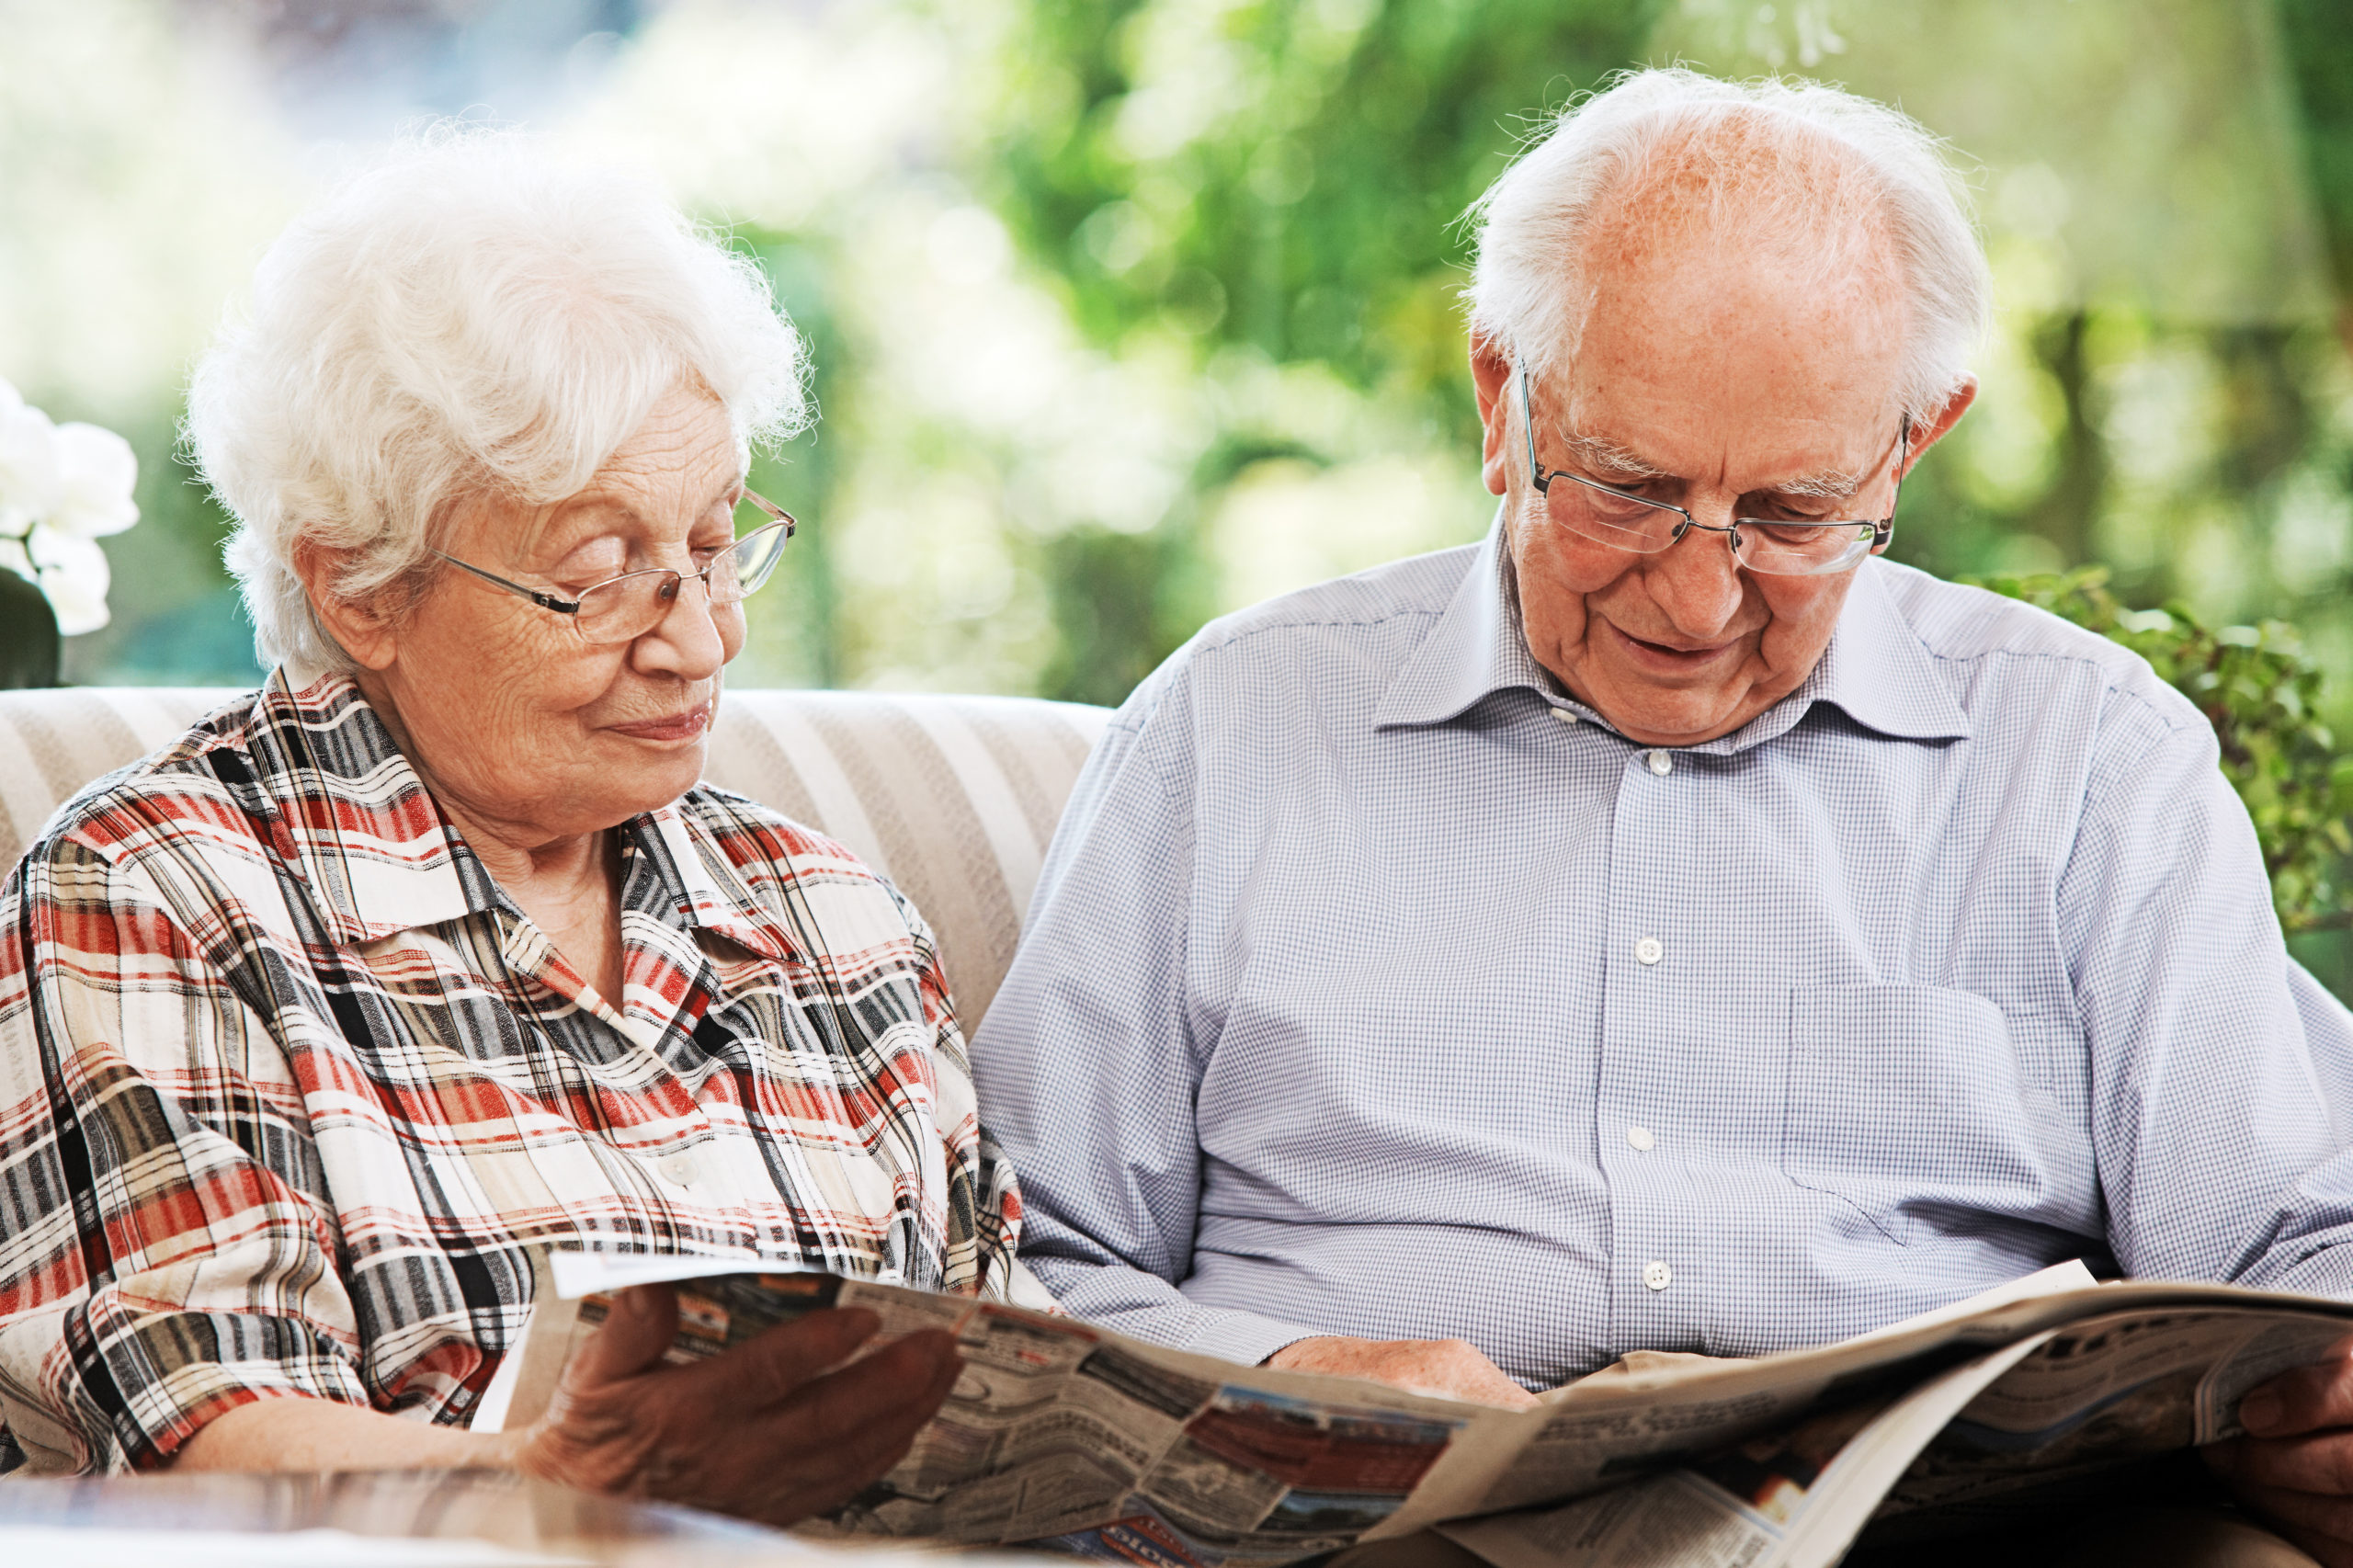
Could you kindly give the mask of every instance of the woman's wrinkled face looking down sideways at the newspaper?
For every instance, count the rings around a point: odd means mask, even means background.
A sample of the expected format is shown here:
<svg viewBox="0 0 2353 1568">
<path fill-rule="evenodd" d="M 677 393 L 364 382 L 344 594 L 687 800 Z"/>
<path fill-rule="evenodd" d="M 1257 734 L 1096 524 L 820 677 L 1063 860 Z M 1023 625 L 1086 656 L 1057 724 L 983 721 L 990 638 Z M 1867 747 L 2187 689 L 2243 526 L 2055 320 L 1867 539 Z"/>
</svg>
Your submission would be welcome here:
<svg viewBox="0 0 2353 1568">
<path fill-rule="evenodd" d="M 480 499 L 449 520 L 459 560 L 560 598 L 619 572 L 694 572 L 734 542 L 744 485 L 727 410 L 673 391 L 574 497 Z M 631 643 L 591 645 L 572 619 L 445 567 L 351 652 L 360 690 L 393 723 L 435 798 L 513 845 L 593 833 L 701 779 L 720 666 L 744 647 L 744 607 L 687 584 Z"/>
</svg>

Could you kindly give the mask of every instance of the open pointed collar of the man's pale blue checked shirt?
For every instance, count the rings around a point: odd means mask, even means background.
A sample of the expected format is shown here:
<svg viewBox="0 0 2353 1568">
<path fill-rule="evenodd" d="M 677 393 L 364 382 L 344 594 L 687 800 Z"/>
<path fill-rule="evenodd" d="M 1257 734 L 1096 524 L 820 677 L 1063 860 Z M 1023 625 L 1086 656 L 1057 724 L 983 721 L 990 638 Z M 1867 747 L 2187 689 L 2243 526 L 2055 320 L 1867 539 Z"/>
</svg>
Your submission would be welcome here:
<svg viewBox="0 0 2353 1568">
<path fill-rule="evenodd" d="M 1866 560 L 1838 614 L 1838 631 L 1805 683 L 1732 735 L 1692 751 L 1744 751 L 1786 735 L 1817 702 L 1880 735 L 1918 742 L 1965 739 L 1969 718 L 1937 676 L 1920 636 L 1887 591 L 1887 570 Z M 1518 584 L 1504 549 L 1504 513 L 1480 542 L 1461 586 L 1405 662 L 1374 709 L 1374 727 L 1442 725 L 1492 692 L 1525 687 L 1555 706 L 1605 723 L 1560 692 L 1553 676 L 1527 652 L 1520 626 Z"/>
</svg>

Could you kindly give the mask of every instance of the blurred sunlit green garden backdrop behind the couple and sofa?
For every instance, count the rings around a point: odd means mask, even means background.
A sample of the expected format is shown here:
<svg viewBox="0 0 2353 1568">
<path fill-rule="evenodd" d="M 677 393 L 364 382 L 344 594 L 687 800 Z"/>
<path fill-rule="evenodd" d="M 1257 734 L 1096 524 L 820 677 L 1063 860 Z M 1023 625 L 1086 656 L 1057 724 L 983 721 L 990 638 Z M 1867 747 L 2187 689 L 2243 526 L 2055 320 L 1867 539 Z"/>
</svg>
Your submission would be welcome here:
<svg viewBox="0 0 2353 1568">
<path fill-rule="evenodd" d="M 1899 558 L 2287 619 L 2353 735 L 2353 0 L 0 0 L 0 377 L 141 457 L 66 673 L 259 678 L 186 367 L 306 195 L 466 115 L 649 167 L 814 344 L 736 680 L 1118 702 L 1485 527 L 1459 214 L 1678 59 L 1969 170 L 1998 332 Z"/>
</svg>

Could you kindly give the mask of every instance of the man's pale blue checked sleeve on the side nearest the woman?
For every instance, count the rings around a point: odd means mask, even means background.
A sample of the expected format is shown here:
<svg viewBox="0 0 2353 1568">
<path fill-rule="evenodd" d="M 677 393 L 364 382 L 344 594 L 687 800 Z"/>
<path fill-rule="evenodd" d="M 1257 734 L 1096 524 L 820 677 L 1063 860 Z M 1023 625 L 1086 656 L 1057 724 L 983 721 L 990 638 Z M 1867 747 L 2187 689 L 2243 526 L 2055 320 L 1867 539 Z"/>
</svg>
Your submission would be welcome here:
<svg viewBox="0 0 2353 1568">
<path fill-rule="evenodd" d="M 1195 1125 L 1214 1019 L 1186 996 L 1193 822 L 1144 739 L 1148 683 L 1087 760 L 974 1045 L 1021 1170 L 1021 1257 L 1061 1304 L 1158 1344 L 1257 1363 L 1320 1330 L 1202 1307 Z M 1169 772 L 1176 772 L 1172 768 Z"/>
</svg>

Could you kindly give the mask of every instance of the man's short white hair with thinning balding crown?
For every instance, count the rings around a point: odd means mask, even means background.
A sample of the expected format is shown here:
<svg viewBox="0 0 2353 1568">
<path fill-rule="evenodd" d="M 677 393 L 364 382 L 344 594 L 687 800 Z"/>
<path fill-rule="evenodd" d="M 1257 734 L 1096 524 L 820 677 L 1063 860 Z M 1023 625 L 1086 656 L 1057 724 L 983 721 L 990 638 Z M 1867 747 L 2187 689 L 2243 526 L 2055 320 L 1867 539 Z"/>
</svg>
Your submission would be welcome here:
<svg viewBox="0 0 2353 1568">
<path fill-rule="evenodd" d="M 1471 217 L 1471 327 L 1532 374 L 1574 353 L 1593 292 L 1579 268 L 1602 228 L 1746 245 L 1826 283 L 1878 252 L 1901 273 L 1897 396 L 1915 421 L 1967 379 L 1986 332 L 1991 278 L 1960 174 L 1920 122 L 1838 87 L 1626 73 L 1565 108 Z"/>
</svg>

